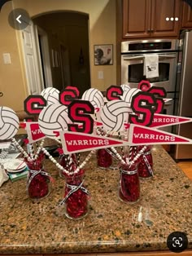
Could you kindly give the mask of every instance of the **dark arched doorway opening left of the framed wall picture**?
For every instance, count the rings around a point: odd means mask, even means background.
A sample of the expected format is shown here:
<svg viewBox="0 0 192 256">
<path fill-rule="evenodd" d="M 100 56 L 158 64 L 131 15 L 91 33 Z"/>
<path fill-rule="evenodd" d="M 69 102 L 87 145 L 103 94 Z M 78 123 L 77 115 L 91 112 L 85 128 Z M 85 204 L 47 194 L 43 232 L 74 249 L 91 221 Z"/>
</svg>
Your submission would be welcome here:
<svg viewBox="0 0 192 256">
<path fill-rule="evenodd" d="M 80 95 L 90 85 L 89 15 L 51 12 L 33 17 L 44 87 L 76 86 Z M 50 67 L 49 67 L 50 64 Z"/>
</svg>

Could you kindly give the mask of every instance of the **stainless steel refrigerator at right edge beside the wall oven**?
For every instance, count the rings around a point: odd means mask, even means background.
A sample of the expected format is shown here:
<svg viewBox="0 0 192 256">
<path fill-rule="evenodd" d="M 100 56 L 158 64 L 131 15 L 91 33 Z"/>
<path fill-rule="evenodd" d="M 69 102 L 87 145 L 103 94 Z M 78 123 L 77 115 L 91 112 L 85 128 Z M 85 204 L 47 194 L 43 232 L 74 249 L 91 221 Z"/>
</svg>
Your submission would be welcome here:
<svg viewBox="0 0 192 256">
<path fill-rule="evenodd" d="M 181 33 L 180 50 L 175 115 L 192 117 L 192 30 Z M 192 139 L 192 122 L 175 126 L 174 129 L 177 135 Z M 176 160 L 192 159 L 192 145 L 175 145 L 173 157 Z"/>
</svg>

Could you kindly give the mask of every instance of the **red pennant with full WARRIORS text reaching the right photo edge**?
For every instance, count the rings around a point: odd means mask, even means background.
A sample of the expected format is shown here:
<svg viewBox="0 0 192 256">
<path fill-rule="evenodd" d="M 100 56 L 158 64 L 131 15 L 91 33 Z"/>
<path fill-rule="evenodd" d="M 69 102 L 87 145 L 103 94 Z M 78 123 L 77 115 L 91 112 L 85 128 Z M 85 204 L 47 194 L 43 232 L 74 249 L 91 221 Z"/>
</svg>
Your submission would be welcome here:
<svg viewBox="0 0 192 256">
<path fill-rule="evenodd" d="M 130 125 L 129 143 L 136 145 L 145 144 L 191 144 L 192 140 L 166 131 L 160 131 L 144 126 Z"/>
</svg>

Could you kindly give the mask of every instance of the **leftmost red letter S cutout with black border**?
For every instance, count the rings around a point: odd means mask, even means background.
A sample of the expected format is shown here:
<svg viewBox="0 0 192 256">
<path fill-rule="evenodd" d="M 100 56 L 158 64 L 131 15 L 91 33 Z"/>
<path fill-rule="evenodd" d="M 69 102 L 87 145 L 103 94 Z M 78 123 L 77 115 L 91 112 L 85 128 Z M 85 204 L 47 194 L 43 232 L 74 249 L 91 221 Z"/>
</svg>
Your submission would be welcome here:
<svg viewBox="0 0 192 256">
<path fill-rule="evenodd" d="M 37 104 L 37 107 L 34 107 L 35 104 Z M 43 107 L 46 107 L 46 99 L 41 95 L 29 95 L 24 99 L 24 111 L 28 115 L 39 114 Z"/>
</svg>

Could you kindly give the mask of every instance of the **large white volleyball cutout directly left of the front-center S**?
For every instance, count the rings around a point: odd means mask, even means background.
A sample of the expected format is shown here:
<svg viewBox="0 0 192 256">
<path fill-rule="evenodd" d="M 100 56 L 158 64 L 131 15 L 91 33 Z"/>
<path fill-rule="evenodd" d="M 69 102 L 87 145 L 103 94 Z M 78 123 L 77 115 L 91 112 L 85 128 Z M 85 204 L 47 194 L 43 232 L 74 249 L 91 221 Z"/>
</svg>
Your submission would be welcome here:
<svg viewBox="0 0 192 256">
<path fill-rule="evenodd" d="M 54 131 L 68 130 L 68 107 L 62 104 L 51 104 L 41 110 L 38 118 L 39 128 L 47 137 L 55 137 Z"/>
</svg>

